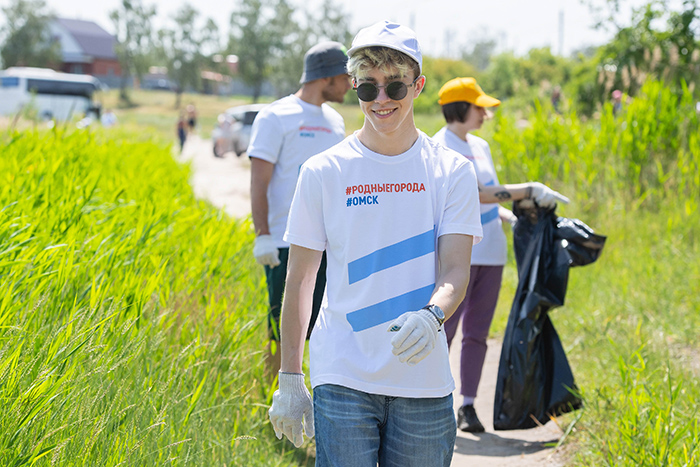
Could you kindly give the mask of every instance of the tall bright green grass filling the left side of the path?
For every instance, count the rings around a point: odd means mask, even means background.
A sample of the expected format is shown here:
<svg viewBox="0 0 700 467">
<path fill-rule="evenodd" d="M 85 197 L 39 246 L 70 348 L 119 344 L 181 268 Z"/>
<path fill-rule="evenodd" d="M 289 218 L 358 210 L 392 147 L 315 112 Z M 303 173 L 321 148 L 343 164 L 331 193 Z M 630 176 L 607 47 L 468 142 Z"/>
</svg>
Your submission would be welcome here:
<svg viewBox="0 0 700 467">
<path fill-rule="evenodd" d="M 248 222 L 168 146 L 0 138 L 0 465 L 306 462 L 267 423 Z"/>
</svg>

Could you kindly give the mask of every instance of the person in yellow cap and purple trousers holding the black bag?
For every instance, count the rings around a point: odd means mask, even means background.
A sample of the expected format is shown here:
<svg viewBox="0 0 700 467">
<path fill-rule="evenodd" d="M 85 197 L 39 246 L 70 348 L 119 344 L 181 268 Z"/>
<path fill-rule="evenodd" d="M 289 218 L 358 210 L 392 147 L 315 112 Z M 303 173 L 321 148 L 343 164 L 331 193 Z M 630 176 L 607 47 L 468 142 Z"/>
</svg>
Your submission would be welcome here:
<svg viewBox="0 0 700 467">
<path fill-rule="evenodd" d="M 457 426 L 462 431 L 478 433 L 484 431 L 484 426 L 474 409 L 474 399 L 506 263 L 506 237 L 501 219 L 515 221 L 513 213 L 499 203 L 529 198 L 540 206 L 553 208 L 557 202 L 568 203 L 569 199 L 537 182 L 499 184 L 488 143 L 470 132 L 481 128 L 487 117 L 486 108 L 496 107 L 501 101 L 487 95 L 474 78 L 450 80 L 438 95 L 447 125 L 433 138 L 470 160 L 479 182 L 484 238 L 472 250 L 467 294 L 454 315 L 445 322 L 445 334 L 451 343 L 462 321 L 460 393 L 464 399 L 457 412 Z"/>
</svg>

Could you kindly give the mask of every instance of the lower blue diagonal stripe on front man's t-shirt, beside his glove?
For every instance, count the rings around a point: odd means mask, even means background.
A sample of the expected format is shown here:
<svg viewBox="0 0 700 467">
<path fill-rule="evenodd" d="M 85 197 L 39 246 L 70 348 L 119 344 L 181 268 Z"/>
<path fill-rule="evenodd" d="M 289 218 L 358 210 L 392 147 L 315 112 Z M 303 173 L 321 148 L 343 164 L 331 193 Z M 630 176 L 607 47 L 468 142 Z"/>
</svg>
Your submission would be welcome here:
<svg viewBox="0 0 700 467">
<path fill-rule="evenodd" d="M 346 318 L 353 331 L 364 331 L 392 321 L 407 311 L 419 310 L 428 303 L 433 289 L 435 284 L 352 311 L 346 315 Z"/>
</svg>

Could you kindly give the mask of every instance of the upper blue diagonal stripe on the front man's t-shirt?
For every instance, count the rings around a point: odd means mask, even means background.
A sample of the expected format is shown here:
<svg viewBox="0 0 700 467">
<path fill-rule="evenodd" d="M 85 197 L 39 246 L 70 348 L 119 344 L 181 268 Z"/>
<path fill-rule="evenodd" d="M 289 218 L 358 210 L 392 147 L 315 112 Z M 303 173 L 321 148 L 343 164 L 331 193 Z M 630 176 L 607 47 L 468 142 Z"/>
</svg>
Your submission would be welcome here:
<svg viewBox="0 0 700 467">
<path fill-rule="evenodd" d="M 415 237 L 381 248 L 348 263 L 350 284 L 435 251 L 435 228 Z"/>
</svg>

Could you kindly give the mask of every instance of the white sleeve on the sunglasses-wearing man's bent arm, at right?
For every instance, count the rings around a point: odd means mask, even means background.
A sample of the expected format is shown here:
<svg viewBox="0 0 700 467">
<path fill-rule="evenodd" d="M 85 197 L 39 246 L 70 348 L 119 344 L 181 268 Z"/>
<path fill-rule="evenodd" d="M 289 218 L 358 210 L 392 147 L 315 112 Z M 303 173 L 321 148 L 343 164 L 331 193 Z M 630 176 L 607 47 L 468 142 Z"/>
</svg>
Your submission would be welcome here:
<svg viewBox="0 0 700 467">
<path fill-rule="evenodd" d="M 454 233 L 474 236 L 474 244 L 479 243 L 483 237 L 476 172 L 472 163 L 466 159 L 450 172 L 438 237 Z"/>
</svg>

